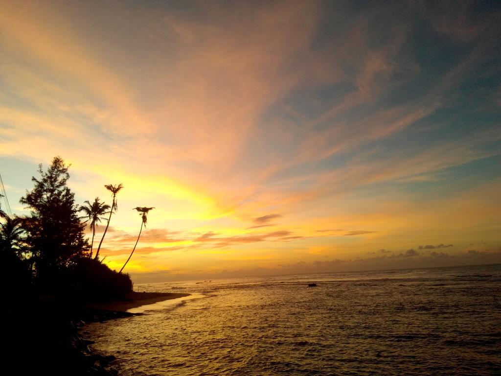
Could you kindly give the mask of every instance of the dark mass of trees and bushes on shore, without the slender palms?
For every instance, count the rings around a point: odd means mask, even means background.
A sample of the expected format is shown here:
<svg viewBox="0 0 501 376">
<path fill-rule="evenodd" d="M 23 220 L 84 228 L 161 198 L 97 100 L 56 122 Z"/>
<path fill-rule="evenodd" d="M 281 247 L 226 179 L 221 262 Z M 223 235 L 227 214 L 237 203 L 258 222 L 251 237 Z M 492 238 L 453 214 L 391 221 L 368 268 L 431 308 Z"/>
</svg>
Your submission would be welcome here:
<svg viewBox="0 0 501 376">
<path fill-rule="evenodd" d="M 13 293 L 21 289 L 99 300 L 124 295 L 132 291 L 129 275 L 91 257 L 86 225 L 78 216 L 81 207 L 67 185 L 68 169 L 61 157 L 55 157 L 47 171 L 40 165 L 40 177 L 32 178 L 33 190 L 20 200 L 30 215 L 10 218 L 2 212 L 3 282 L 13 286 Z"/>
</svg>

